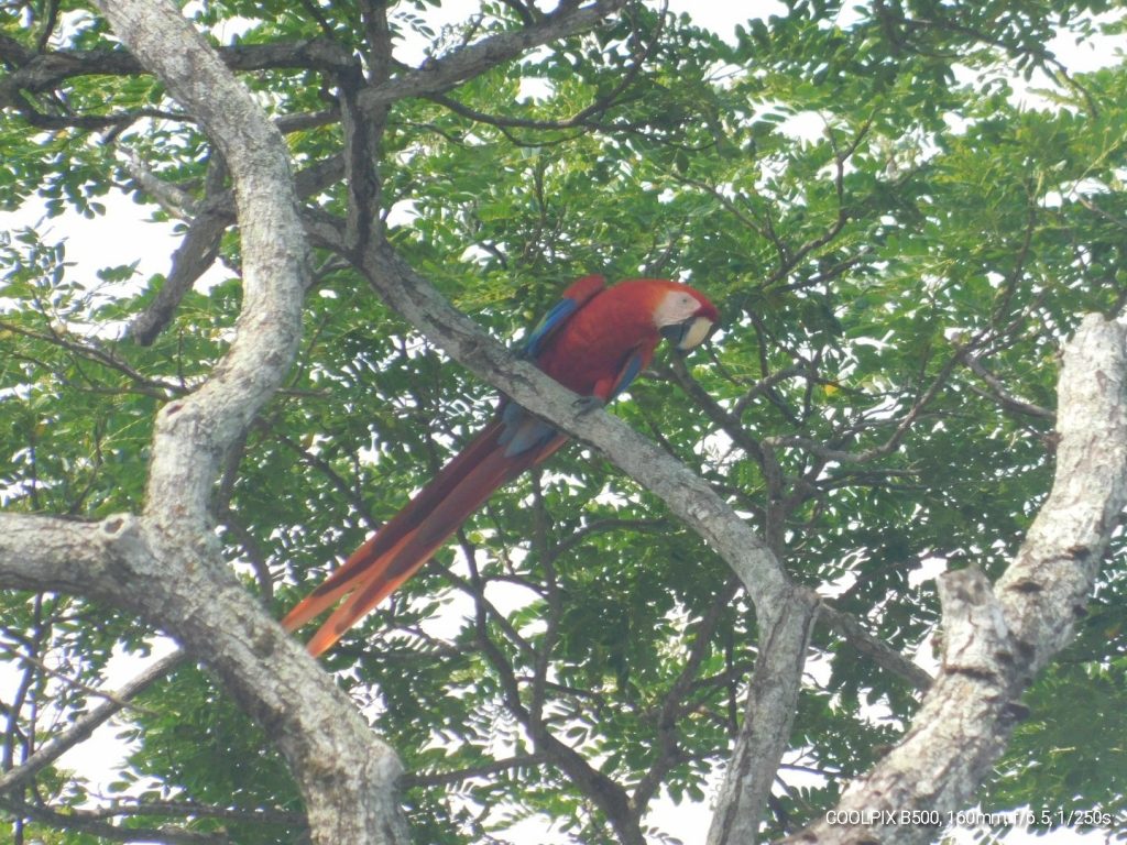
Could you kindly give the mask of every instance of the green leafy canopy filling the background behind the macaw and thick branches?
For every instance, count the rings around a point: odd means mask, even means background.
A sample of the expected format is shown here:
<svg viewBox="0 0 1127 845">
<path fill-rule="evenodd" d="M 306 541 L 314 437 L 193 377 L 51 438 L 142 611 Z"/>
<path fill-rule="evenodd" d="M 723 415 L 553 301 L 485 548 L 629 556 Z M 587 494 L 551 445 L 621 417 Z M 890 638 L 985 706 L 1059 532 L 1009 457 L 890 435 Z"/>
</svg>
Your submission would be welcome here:
<svg viewBox="0 0 1127 845">
<path fill-rule="evenodd" d="M 243 284 L 254 174 L 125 37 L 128 6 L 0 5 L 0 207 L 46 210 L 0 232 L 0 504 L 115 534 L 162 501 L 159 420 L 233 372 L 256 330 L 240 314 L 265 296 Z M 655 2 L 482 0 L 441 29 L 438 6 L 180 9 L 284 136 L 301 229 L 254 223 L 266 242 L 298 232 L 283 246 L 307 268 L 293 364 L 263 353 L 279 382 L 208 452 L 185 560 L 219 561 L 201 567 L 279 617 L 485 424 L 498 386 L 520 389 L 426 296 L 509 343 L 586 274 L 689 282 L 720 331 L 659 355 L 610 410 L 755 532 L 795 596 L 824 599 L 796 634 L 805 670 L 755 819 L 796 834 L 953 665 L 935 575 L 995 581 L 1022 560 L 1059 469 L 1061 350 L 1127 303 L 1127 69 L 1079 72 L 1063 50 L 1120 35 L 1125 7 L 788 0 L 724 38 Z M 431 45 L 418 68 L 408 39 Z M 112 194 L 176 223 L 167 272 L 142 277 L 131 240 L 68 261 L 52 220 Z M 322 661 L 326 695 L 345 691 L 401 760 L 414 842 L 668 840 L 655 806 L 728 807 L 742 727 L 774 712 L 761 686 L 788 688 L 763 679 L 764 596 L 783 594 L 757 596 L 664 488 L 593 447 L 595 417 Z M 1047 666 L 1013 658 L 1029 671 L 1008 690 L 1036 677 L 960 806 L 1032 811 L 1037 831 L 1127 826 L 1127 573 L 1115 521 L 1101 531 L 1088 595 L 1053 599 L 1074 639 Z M 54 581 L 21 572 L 32 548 L 57 552 Z M 0 545 L 0 813 L 18 840 L 331 840 L 279 750 L 291 728 L 207 652 L 195 614 L 219 599 L 86 589 L 61 540 L 20 549 Z M 118 708 L 109 794 L 56 760 L 15 777 L 77 741 L 110 658 L 158 633 L 187 658 Z"/>
</svg>

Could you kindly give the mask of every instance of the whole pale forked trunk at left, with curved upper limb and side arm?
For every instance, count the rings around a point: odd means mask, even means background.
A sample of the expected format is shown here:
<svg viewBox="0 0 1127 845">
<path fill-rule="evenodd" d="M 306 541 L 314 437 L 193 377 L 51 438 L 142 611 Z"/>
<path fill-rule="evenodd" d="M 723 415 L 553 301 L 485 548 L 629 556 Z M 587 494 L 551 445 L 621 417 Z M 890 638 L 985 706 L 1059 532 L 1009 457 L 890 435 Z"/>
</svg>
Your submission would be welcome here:
<svg viewBox="0 0 1127 845">
<path fill-rule="evenodd" d="M 307 247 L 277 130 L 171 3 L 104 0 L 115 34 L 222 152 L 241 222 L 237 339 L 158 416 L 141 516 L 98 525 L 0 516 L 0 584 L 133 611 L 177 639 L 276 738 L 317 843 L 406 843 L 400 764 L 222 560 L 208 504 L 222 461 L 281 383 L 301 330 Z"/>
</svg>

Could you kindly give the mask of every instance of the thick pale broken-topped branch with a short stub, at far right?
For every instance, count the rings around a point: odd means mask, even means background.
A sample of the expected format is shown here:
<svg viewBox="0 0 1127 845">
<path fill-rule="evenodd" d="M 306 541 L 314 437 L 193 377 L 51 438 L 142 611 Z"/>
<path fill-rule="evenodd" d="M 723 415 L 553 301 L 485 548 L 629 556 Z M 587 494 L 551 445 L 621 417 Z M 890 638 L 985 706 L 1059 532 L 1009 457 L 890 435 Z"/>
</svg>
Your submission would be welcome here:
<svg viewBox="0 0 1127 845">
<path fill-rule="evenodd" d="M 855 782 L 838 809 L 941 812 L 962 808 L 1001 755 L 1018 697 L 1071 639 L 1099 563 L 1127 506 L 1125 331 L 1085 318 L 1064 354 L 1053 491 L 1013 562 L 992 588 L 976 569 L 940 578 L 943 661 L 904 740 Z M 924 773 L 925 776 L 921 776 Z M 932 828 L 833 827 L 792 843 L 924 843 Z"/>
</svg>

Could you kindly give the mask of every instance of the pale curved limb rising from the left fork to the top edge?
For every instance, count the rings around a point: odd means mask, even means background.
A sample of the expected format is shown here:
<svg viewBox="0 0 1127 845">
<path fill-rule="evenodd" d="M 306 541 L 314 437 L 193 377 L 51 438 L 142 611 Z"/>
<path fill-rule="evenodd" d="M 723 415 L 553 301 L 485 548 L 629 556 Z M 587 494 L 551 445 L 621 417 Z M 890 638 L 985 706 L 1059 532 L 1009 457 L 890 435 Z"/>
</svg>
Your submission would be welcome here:
<svg viewBox="0 0 1127 845">
<path fill-rule="evenodd" d="M 296 349 L 308 272 L 298 199 L 281 134 L 171 6 L 105 0 L 101 8 L 142 64 L 197 116 L 234 181 L 245 290 L 238 339 L 198 392 L 160 413 L 148 489 L 158 521 L 175 501 L 178 516 L 202 527 L 223 453 L 277 389 Z M 170 51 L 170 38 L 185 50 Z"/>
</svg>

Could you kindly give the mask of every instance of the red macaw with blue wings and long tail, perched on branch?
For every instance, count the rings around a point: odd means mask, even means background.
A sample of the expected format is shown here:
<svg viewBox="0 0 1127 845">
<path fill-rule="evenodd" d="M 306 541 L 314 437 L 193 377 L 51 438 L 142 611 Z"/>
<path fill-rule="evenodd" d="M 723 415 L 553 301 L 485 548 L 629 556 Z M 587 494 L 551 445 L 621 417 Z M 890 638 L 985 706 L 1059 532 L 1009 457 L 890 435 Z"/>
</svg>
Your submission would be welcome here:
<svg viewBox="0 0 1127 845">
<path fill-rule="evenodd" d="M 676 282 L 639 278 L 606 287 L 586 276 L 564 292 L 529 336 L 524 354 L 566 388 L 609 402 L 646 367 L 663 337 L 677 349 L 703 341 L 716 306 Z M 539 464 L 567 442 L 515 402 L 497 413 L 402 510 L 353 552 L 344 566 L 299 602 L 282 625 L 293 631 L 347 596 L 309 641 L 317 657 L 410 578 L 498 487 Z"/>
</svg>

